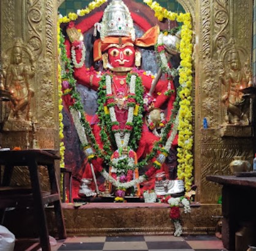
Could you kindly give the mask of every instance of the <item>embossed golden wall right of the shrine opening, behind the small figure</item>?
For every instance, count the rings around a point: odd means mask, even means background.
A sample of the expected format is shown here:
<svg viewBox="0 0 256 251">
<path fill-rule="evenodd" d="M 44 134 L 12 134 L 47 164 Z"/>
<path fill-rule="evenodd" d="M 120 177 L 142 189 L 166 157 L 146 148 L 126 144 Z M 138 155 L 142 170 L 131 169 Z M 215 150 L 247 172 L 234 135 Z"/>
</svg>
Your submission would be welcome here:
<svg viewBox="0 0 256 251">
<path fill-rule="evenodd" d="M 222 128 L 227 109 L 221 102 L 224 85 L 220 82 L 220 76 L 229 61 L 224 64 L 219 61 L 222 57 L 229 60 L 225 51 L 228 51 L 227 46 L 232 38 L 236 41 L 236 48 L 240 48 L 241 67 L 243 70 L 246 68 L 248 59 L 242 55 L 250 54 L 252 46 L 252 1 L 200 0 L 197 8 L 195 183 L 198 186 L 197 200 L 206 203 L 217 202 L 221 194 L 219 186 L 206 181 L 207 175 L 230 174 L 229 164 L 233 156 L 244 156 L 248 160 L 253 158 L 250 126 Z M 246 31 L 249 31 L 248 35 Z M 203 118 L 208 120 L 208 129 L 203 129 Z"/>
</svg>

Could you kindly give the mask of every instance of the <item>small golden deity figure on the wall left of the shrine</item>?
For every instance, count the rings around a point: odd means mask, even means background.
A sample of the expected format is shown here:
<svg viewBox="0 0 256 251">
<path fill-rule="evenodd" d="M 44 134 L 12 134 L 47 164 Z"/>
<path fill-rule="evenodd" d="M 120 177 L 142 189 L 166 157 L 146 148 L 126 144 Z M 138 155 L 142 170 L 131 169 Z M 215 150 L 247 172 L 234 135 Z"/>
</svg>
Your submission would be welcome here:
<svg viewBox="0 0 256 251">
<path fill-rule="evenodd" d="M 34 65 L 24 63 L 24 46 L 15 41 L 6 70 L 6 89 L 11 93 L 12 109 L 9 118 L 29 121 L 31 97 L 34 90 L 29 86 L 29 79 L 34 76 Z M 29 55 L 31 57 L 31 55 Z"/>
</svg>

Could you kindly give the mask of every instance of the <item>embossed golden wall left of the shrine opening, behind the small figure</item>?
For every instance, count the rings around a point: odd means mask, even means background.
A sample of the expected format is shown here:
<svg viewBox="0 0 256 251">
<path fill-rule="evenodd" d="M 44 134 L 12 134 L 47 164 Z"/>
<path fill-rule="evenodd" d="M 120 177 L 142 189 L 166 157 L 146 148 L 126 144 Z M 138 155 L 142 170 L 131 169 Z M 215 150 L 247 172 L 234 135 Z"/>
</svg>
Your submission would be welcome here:
<svg viewBox="0 0 256 251">
<path fill-rule="evenodd" d="M 2 147 L 59 147 L 57 9 L 58 2 L 51 0 L 1 1 L 2 68 L 5 70 L 12 64 L 11 51 L 17 38 L 23 42 L 24 68 L 32 65 L 34 69 L 29 79 L 29 87 L 34 92 L 29 101 L 32 115 L 29 119 L 21 119 L 23 111 L 20 111 L 12 123 L 6 123 L 0 136 Z M 5 85 L 9 84 L 6 76 L 4 81 Z M 9 106 L 13 105 L 9 103 Z M 42 178 L 47 176 L 43 169 L 41 174 Z M 13 184 L 26 184 L 26 180 L 26 172 L 17 168 Z M 42 183 L 47 184 L 47 180 Z"/>
</svg>

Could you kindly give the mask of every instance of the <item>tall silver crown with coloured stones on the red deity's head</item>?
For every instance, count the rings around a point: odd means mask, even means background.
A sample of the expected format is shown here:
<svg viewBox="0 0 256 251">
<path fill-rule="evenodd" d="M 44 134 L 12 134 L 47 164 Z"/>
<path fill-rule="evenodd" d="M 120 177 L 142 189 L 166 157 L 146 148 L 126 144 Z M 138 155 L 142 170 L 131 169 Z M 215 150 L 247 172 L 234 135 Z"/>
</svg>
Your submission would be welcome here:
<svg viewBox="0 0 256 251">
<path fill-rule="evenodd" d="M 132 37 L 135 40 L 134 22 L 122 0 L 113 0 L 104 11 L 102 23 L 97 23 L 101 40 L 108 36 Z"/>
</svg>

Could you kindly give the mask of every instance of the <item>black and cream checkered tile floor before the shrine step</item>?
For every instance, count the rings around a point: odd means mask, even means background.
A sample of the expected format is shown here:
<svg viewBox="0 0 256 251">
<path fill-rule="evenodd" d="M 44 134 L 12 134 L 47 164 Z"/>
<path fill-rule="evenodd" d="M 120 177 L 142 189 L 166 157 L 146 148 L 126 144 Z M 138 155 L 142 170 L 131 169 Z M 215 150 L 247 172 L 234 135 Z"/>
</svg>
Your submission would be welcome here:
<svg viewBox="0 0 256 251">
<path fill-rule="evenodd" d="M 40 250 L 38 243 L 24 243 L 18 241 L 15 251 Z M 74 251 L 74 250 L 140 250 L 140 251 L 220 251 L 225 250 L 222 241 L 215 236 L 190 235 L 175 237 L 173 235 L 147 235 L 147 236 L 90 236 L 73 237 L 58 241 L 51 251 Z"/>
</svg>

